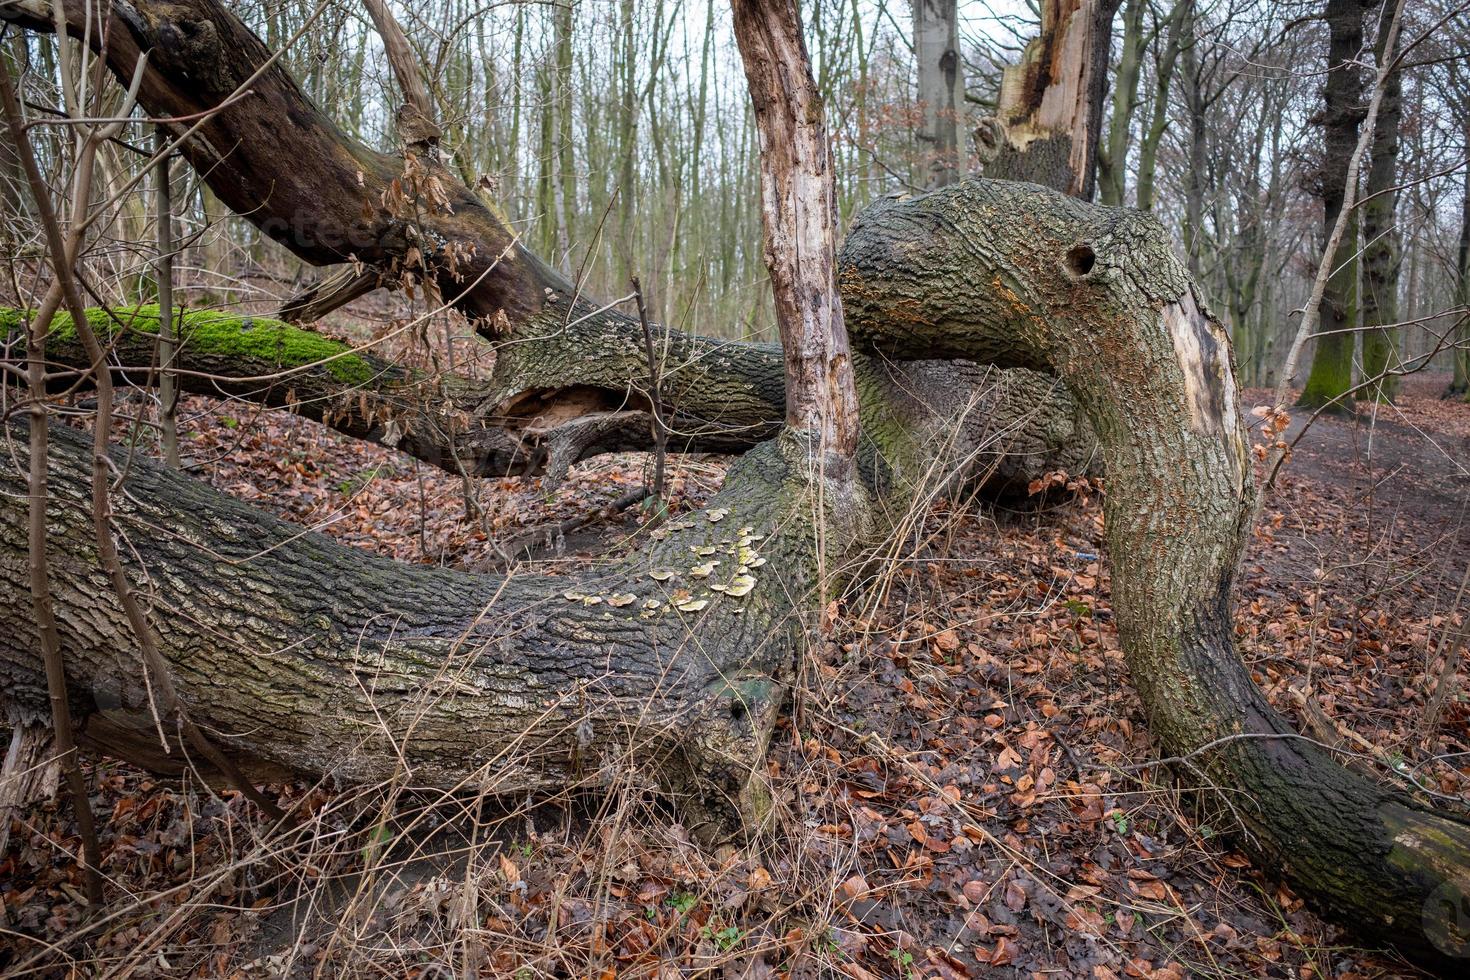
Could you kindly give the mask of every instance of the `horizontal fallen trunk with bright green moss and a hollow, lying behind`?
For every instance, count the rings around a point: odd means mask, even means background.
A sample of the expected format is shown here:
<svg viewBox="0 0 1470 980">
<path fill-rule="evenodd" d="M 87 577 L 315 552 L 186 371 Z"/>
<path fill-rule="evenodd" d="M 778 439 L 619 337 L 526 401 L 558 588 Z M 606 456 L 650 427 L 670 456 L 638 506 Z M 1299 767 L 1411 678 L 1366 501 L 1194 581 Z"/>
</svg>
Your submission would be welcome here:
<svg viewBox="0 0 1470 980">
<path fill-rule="evenodd" d="M 159 383 L 156 307 L 93 309 L 88 319 L 109 342 L 118 383 Z M 641 336 L 623 317 L 506 344 L 487 356 L 494 364 L 488 379 L 410 370 L 270 317 L 190 310 L 175 319 L 182 391 L 288 408 L 450 473 L 547 475 L 551 485 L 572 463 L 653 448 Z M 656 329 L 672 451 L 745 453 L 779 432 L 779 345 Z M 0 307 L 0 341 L 24 350 L 24 311 Z M 65 313 L 51 323 L 47 359 L 76 373 L 91 367 Z M 1050 375 L 953 361 L 898 366 L 863 356 L 854 357 L 854 370 L 870 433 L 861 453 L 869 470 L 920 451 L 904 448 L 904 430 L 892 425 L 904 417 L 908 430 L 956 420 L 947 451 L 973 457 L 967 473 L 992 497 L 1026 494 L 1055 470 L 1098 472 L 1095 439 Z M 76 375 L 59 373 L 56 385 L 76 382 Z"/>
</svg>

